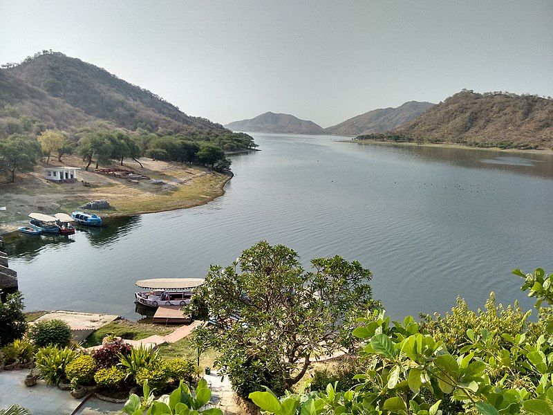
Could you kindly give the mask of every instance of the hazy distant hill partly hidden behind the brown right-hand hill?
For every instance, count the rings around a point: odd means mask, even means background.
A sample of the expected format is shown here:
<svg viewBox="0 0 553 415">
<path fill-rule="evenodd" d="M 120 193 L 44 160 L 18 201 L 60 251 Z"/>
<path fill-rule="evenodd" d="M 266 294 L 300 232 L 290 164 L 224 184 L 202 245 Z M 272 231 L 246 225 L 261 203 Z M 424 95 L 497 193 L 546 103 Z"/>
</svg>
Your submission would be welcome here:
<svg viewBox="0 0 553 415">
<path fill-rule="evenodd" d="M 383 133 L 395 129 L 420 116 L 433 107 L 431 102 L 409 101 L 397 108 L 381 108 L 368 111 L 325 129 L 328 134 L 357 136 L 366 133 Z"/>
</svg>

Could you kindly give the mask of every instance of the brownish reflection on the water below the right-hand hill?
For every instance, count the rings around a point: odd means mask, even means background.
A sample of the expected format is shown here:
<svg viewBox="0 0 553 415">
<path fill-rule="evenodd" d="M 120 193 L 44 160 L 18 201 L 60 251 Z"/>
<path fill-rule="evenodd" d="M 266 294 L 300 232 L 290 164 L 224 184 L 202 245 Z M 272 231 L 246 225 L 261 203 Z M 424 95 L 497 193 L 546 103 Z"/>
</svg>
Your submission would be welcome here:
<svg viewBox="0 0 553 415">
<path fill-rule="evenodd" d="M 372 145 L 372 143 L 371 143 Z M 462 147 L 386 145 L 394 154 L 420 160 L 476 169 L 497 169 L 529 176 L 553 178 L 553 154 L 503 152 Z M 384 145 L 382 145 L 384 147 Z M 487 161 L 482 161 L 487 160 Z M 497 160 L 495 163 L 493 160 Z M 509 161 L 510 160 L 510 161 Z"/>
</svg>

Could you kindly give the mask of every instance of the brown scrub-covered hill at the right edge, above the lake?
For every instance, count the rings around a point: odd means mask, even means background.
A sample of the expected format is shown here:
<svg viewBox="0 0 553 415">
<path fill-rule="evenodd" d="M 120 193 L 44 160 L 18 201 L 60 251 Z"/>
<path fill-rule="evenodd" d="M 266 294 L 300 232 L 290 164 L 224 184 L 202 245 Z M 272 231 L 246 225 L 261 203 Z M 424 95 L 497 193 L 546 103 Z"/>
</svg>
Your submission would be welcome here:
<svg viewBox="0 0 553 415">
<path fill-rule="evenodd" d="M 536 95 L 463 90 L 391 133 L 372 138 L 551 149 L 553 100 Z"/>
</svg>

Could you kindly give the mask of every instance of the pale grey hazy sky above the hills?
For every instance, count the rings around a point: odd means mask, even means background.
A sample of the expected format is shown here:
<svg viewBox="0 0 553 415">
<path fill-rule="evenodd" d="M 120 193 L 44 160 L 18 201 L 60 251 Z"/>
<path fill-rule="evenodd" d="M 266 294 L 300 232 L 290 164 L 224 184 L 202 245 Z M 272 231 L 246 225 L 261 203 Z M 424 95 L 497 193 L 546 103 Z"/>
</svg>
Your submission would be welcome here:
<svg viewBox="0 0 553 415">
<path fill-rule="evenodd" d="M 50 48 L 193 116 L 328 127 L 462 88 L 553 95 L 553 0 L 0 0 L 1 63 Z"/>
</svg>

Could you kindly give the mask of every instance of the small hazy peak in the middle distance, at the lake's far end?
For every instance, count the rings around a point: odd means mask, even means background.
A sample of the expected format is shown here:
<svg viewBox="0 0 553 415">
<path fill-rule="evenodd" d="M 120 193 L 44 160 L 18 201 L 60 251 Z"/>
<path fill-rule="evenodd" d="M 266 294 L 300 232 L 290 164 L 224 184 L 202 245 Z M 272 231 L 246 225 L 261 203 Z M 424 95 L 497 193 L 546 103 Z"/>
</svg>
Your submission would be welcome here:
<svg viewBox="0 0 553 415">
<path fill-rule="evenodd" d="M 290 114 L 266 112 L 250 120 L 230 122 L 225 128 L 251 133 L 324 134 L 324 129 L 315 122 L 300 120 Z"/>
</svg>

